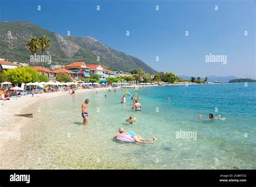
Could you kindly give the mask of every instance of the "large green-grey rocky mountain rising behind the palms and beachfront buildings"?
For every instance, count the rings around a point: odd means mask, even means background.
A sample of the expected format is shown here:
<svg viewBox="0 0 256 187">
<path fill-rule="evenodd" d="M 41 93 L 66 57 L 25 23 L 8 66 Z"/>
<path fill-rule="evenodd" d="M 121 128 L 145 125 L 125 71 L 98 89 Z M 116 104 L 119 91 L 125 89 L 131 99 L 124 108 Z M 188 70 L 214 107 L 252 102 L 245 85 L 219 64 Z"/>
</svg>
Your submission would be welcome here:
<svg viewBox="0 0 256 187">
<path fill-rule="evenodd" d="M 116 71 L 142 68 L 146 73 L 157 73 L 156 70 L 136 57 L 116 51 L 95 38 L 62 37 L 26 21 L 0 21 L 0 57 L 8 61 L 32 64 L 30 62 L 31 53 L 28 51 L 26 42 L 32 37 L 39 38 L 43 35 L 51 40 L 51 48 L 46 51 L 46 54 L 51 55 L 51 65 L 64 66 L 71 62 L 83 61 L 86 64 L 100 63 L 103 67 Z M 37 52 L 37 54 L 42 53 Z M 97 56 L 100 61 L 97 61 Z M 45 64 L 45 66 L 49 67 L 50 65 Z"/>
</svg>

